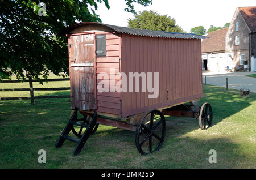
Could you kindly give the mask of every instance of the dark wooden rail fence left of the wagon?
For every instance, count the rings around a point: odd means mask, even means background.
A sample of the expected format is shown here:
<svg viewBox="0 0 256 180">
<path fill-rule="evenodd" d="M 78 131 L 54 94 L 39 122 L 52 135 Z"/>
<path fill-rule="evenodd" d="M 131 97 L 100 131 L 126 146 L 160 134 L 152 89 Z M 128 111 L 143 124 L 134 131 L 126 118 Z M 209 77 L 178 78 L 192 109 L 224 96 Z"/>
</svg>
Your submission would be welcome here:
<svg viewBox="0 0 256 180">
<path fill-rule="evenodd" d="M 47 79 L 48 82 L 53 81 L 66 81 L 69 78 L 61 78 L 61 79 Z M 20 80 L 3 80 L 1 83 L 20 83 Z M 70 90 L 69 87 L 67 88 L 33 88 L 32 82 L 39 82 L 39 80 L 28 79 L 24 82 L 29 82 L 30 88 L 10 88 L 10 89 L 0 89 L 0 91 L 30 91 L 30 97 L 0 97 L 0 100 L 27 100 L 31 99 L 31 104 L 35 104 L 35 99 L 39 98 L 68 98 L 70 95 L 55 95 L 55 96 L 34 96 L 34 91 L 61 91 L 61 90 Z M 46 80 L 43 80 L 46 82 Z"/>
</svg>

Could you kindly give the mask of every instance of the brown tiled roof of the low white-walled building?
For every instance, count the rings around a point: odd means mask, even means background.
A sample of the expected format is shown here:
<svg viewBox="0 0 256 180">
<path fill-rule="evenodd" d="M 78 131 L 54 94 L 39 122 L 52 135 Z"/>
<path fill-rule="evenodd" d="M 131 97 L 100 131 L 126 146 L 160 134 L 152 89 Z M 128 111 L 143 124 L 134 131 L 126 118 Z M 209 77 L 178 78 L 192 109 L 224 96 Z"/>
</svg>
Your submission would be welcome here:
<svg viewBox="0 0 256 180">
<path fill-rule="evenodd" d="M 209 32 L 207 39 L 202 41 L 202 53 L 225 51 L 225 37 L 229 28 Z"/>
</svg>

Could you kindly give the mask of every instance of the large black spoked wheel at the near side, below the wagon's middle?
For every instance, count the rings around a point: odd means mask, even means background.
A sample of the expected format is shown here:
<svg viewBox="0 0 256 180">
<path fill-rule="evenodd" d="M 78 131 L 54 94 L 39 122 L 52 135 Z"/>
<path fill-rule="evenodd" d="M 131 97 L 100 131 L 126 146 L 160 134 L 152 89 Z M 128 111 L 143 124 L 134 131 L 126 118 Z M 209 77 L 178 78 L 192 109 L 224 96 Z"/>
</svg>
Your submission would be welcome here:
<svg viewBox="0 0 256 180">
<path fill-rule="evenodd" d="M 142 155 L 159 151 L 166 135 L 166 119 L 157 109 L 150 109 L 139 119 L 135 143 Z"/>
</svg>

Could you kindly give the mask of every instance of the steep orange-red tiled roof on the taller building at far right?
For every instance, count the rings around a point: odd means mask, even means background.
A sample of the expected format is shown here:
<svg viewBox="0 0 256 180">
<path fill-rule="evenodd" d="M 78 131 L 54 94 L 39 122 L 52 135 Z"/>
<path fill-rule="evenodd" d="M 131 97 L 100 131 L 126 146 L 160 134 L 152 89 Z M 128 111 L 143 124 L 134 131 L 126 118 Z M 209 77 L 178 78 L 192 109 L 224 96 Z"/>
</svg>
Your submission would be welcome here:
<svg viewBox="0 0 256 180">
<path fill-rule="evenodd" d="M 256 32 L 256 6 L 238 7 L 251 32 Z"/>
</svg>

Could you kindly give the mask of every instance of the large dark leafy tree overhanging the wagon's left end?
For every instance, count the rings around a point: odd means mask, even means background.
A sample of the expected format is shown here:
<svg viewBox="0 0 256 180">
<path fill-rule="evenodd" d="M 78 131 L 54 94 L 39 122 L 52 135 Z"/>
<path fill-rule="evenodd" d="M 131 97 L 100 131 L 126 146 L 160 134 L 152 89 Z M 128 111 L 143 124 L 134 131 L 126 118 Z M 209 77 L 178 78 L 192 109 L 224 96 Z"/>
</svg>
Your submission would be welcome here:
<svg viewBox="0 0 256 180">
<path fill-rule="evenodd" d="M 152 0 L 124 0 L 127 12 L 135 12 L 134 3 L 147 6 Z M 108 0 L 0 0 L 0 80 L 47 79 L 49 72 L 65 76 L 68 70 L 67 37 L 58 36 L 76 22 L 101 22 L 97 3 Z M 63 74 L 63 72 L 65 74 Z M 42 81 L 41 81 L 42 83 Z"/>
</svg>

